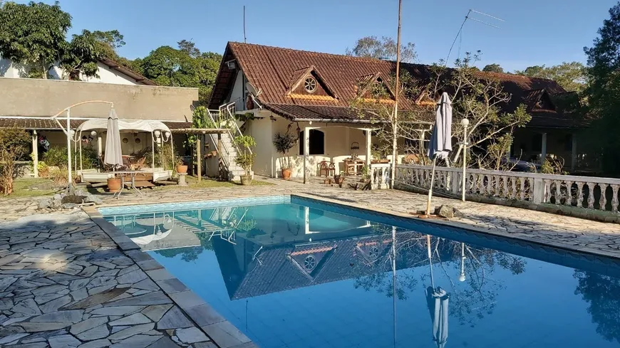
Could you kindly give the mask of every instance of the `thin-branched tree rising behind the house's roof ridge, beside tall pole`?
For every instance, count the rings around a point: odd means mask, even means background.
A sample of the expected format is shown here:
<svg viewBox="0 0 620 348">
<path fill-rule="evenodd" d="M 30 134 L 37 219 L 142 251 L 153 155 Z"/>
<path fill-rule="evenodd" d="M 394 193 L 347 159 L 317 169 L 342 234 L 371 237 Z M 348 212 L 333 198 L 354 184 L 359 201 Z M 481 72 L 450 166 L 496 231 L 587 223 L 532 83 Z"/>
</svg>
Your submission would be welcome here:
<svg viewBox="0 0 620 348">
<path fill-rule="evenodd" d="M 348 56 L 396 60 L 396 41 L 393 38 L 383 36 L 366 36 L 356 41 L 353 49 L 346 48 Z M 401 45 L 401 62 L 413 63 L 416 58 L 415 45 L 406 43 Z"/>
</svg>

